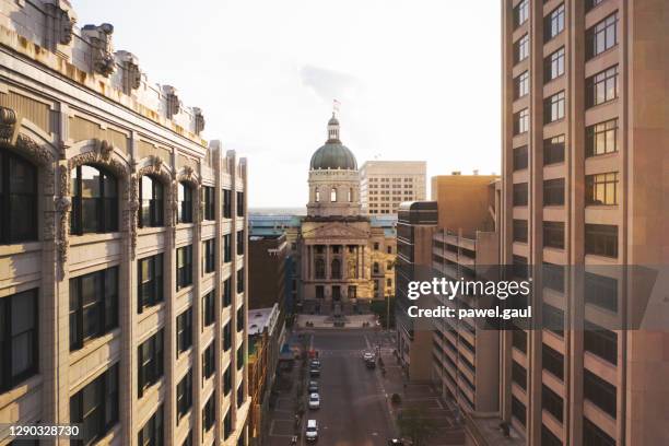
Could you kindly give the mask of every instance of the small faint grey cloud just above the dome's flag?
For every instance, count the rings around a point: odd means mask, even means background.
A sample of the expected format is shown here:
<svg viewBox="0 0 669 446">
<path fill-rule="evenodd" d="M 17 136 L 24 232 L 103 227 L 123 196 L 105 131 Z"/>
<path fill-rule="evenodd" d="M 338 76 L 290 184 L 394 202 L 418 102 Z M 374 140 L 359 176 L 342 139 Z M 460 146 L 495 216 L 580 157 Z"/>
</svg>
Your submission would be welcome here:
<svg viewBox="0 0 669 446">
<path fill-rule="evenodd" d="M 312 89 L 326 103 L 332 99 L 351 103 L 364 91 L 360 79 L 326 68 L 307 64 L 300 70 L 300 75 L 302 84 Z"/>
</svg>

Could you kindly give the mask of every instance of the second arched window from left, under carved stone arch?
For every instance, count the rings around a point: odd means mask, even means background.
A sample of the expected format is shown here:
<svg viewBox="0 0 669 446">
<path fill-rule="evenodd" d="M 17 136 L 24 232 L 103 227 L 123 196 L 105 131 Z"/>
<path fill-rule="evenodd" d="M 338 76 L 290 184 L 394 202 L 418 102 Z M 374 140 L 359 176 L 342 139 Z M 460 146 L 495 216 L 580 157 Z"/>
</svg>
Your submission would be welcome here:
<svg viewBox="0 0 669 446">
<path fill-rule="evenodd" d="M 108 233 L 118 231 L 118 183 L 97 167 L 83 165 L 72 169 L 72 218 L 70 233 Z"/>
</svg>

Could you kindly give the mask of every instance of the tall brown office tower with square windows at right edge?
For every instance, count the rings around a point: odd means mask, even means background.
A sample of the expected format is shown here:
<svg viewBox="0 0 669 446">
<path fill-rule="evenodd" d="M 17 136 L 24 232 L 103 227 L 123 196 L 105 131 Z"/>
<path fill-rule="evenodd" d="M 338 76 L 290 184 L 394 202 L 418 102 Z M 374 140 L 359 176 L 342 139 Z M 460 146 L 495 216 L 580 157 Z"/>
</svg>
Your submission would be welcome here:
<svg viewBox="0 0 669 446">
<path fill-rule="evenodd" d="M 621 267 L 669 263 L 669 4 L 502 7 L 502 257 L 543 269 L 552 324 L 504 334 L 501 419 L 517 444 L 669 444 L 669 333 L 620 329 L 655 284 Z M 468 420 L 472 444 L 496 431 Z"/>
</svg>

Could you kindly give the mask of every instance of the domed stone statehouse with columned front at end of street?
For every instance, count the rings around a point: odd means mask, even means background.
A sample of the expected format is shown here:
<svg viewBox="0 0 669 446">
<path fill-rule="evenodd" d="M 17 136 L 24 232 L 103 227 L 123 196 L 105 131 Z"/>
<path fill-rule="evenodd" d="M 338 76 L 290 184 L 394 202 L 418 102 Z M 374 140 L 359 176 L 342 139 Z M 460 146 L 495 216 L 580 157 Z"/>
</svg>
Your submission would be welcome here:
<svg viewBox="0 0 669 446">
<path fill-rule="evenodd" d="M 325 312 L 395 294 L 394 231 L 361 213 L 357 162 L 339 131 L 332 114 L 328 140 L 312 156 L 296 247 L 300 301 Z"/>
</svg>

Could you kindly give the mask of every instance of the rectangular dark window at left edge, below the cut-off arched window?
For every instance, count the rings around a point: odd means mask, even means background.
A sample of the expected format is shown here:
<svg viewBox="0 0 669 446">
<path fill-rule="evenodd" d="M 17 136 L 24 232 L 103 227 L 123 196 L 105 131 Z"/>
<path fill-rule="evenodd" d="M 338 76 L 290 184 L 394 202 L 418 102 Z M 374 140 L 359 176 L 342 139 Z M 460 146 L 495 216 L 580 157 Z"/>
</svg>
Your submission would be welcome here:
<svg viewBox="0 0 669 446">
<path fill-rule="evenodd" d="M 37 289 L 0 298 L 0 391 L 37 373 Z"/>
</svg>

